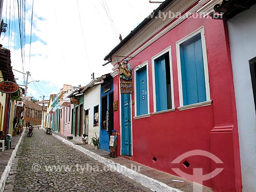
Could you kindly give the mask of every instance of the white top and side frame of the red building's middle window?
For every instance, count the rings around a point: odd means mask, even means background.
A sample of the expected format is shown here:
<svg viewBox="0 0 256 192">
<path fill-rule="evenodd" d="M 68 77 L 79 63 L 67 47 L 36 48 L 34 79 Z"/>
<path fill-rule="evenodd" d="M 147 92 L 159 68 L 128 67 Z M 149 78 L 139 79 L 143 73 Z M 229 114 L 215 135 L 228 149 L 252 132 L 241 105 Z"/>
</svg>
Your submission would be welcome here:
<svg viewBox="0 0 256 192">
<path fill-rule="evenodd" d="M 157 112 L 157 106 L 156 106 L 156 83 L 155 83 L 155 59 L 159 58 L 163 54 L 169 52 L 169 65 L 170 65 L 170 91 L 172 95 L 172 109 L 175 109 L 174 107 L 174 81 L 173 81 L 173 62 L 172 62 L 172 49 L 167 47 L 160 53 L 156 54 L 152 57 L 152 84 L 153 84 L 153 101 L 154 101 L 154 113 Z"/>
</svg>

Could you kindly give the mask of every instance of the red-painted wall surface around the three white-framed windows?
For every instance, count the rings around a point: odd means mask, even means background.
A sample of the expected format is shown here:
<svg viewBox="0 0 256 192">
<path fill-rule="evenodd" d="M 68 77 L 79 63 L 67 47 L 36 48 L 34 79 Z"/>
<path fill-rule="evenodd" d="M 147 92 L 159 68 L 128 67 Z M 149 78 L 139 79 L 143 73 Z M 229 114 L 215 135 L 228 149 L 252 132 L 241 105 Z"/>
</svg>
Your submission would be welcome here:
<svg viewBox="0 0 256 192">
<path fill-rule="evenodd" d="M 205 30 L 212 104 L 179 111 L 176 41 L 202 26 Z M 193 174 L 194 168 L 203 168 L 203 174 L 208 174 L 216 167 L 222 167 L 224 170 L 219 175 L 203 184 L 213 187 L 215 191 L 241 191 L 236 105 L 225 23 L 210 18 L 188 18 L 129 61 L 134 69 L 148 60 L 150 113 L 154 112 L 151 59 L 169 46 L 172 49 L 176 111 L 133 119 L 132 160 L 173 175 L 176 175 L 171 169 L 174 167 L 187 174 Z M 118 100 L 120 105 L 118 77 L 114 78 L 114 85 L 114 100 Z M 132 101 L 134 99 L 133 95 Z M 134 105 L 132 111 L 134 116 Z M 120 111 L 114 112 L 115 127 L 118 128 L 119 114 Z M 184 159 L 190 163 L 188 168 L 182 164 L 183 161 L 178 165 L 171 164 L 175 158 L 190 150 L 211 152 L 224 163 L 216 164 L 207 157 L 193 156 Z M 157 158 L 156 162 L 152 160 L 154 157 Z"/>
</svg>

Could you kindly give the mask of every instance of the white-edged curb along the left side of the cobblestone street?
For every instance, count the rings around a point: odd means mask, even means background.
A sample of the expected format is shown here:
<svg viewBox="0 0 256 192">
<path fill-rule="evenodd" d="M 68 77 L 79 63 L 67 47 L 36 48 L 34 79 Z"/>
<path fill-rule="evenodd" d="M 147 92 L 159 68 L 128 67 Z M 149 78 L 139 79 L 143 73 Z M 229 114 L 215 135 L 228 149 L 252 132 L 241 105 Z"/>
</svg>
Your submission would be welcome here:
<svg viewBox="0 0 256 192">
<path fill-rule="evenodd" d="M 13 162 L 15 156 L 16 156 L 16 153 L 18 151 L 18 146 L 19 146 L 20 142 L 22 141 L 24 135 L 25 135 L 25 130 L 23 131 L 22 136 L 19 138 L 18 143 L 16 144 L 15 149 L 12 152 L 12 155 L 11 155 L 7 165 L 5 166 L 5 170 L 4 170 L 4 172 L 2 174 L 2 177 L 1 177 L 1 180 L 0 180 L 0 192 L 3 192 L 4 189 L 5 189 L 5 183 L 6 183 L 6 180 L 7 180 L 8 176 L 9 176 L 9 173 L 10 173 L 10 170 L 11 170 L 11 167 L 12 167 L 12 162 Z"/>
</svg>

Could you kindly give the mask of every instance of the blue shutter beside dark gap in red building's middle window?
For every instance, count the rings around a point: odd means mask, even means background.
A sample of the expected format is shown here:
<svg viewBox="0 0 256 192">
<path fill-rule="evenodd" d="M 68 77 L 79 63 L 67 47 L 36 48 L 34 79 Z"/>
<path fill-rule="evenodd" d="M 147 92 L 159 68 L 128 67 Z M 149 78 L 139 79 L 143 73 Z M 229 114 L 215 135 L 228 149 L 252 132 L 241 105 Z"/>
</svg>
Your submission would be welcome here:
<svg viewBox="0 0 256 192">
<path fill-rule="evenodd" d="M 165 57 L 155 60 L 156 110 L 167 110 Z"/>
</svg>

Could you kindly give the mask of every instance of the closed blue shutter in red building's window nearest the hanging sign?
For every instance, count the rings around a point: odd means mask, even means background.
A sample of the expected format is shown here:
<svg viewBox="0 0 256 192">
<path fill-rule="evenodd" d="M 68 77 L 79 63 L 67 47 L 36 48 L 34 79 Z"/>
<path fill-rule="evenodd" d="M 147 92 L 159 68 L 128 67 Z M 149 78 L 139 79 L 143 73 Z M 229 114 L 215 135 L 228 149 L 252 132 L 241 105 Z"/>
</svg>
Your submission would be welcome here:
<svg viewBox="0 0 256 192">
<path fill-rule="evenodd" d="M 136 73 L 137 115 L 147 114 L 147 75 L 146 66 Z"/>
</svg>

